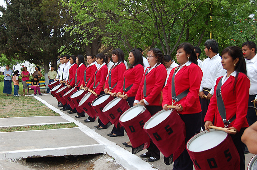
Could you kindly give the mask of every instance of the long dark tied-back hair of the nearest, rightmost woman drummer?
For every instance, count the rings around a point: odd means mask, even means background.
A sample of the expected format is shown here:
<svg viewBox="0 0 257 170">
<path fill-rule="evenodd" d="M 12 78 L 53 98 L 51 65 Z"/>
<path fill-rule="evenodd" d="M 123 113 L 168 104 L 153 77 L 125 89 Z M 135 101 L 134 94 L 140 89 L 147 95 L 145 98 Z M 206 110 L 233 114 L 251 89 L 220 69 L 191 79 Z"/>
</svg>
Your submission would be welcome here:
<svg viewBox="0 0 257 170">
<path fill-rule="evenodd" d="M 230 46 L 223 49 L 221 56 L 223 56 L 225 53 L 227 53 L 230 57 L 232 57 L 233 60 L 235 60 L 236 58 L 239 59 L 235 66 L 235 70 L 236 70 L 236 77 L 235 77 L 235 83 L 234 83 L 234 90 L 235 90 L 238 73 L 241 72 L 247 75 L 246 60 L 243 56 L 243 52 L 241 48 L 237 46 Z"/>
</svg>

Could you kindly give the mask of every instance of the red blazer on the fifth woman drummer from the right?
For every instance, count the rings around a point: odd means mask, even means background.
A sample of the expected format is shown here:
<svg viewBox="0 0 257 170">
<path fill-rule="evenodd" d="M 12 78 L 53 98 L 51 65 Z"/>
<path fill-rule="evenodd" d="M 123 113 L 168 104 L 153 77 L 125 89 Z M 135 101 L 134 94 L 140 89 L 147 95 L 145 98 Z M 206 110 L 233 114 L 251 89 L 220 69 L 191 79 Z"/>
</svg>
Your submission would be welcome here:
<svg viewBox="0 0 257 170">
<path fill-rule="evenodd" d="M 121 89 L 121 87 L 123 87 L 122 77 L 123 77 L 123 73 L 126 70 L 126 66 L 122 62 L 122 63 L 118 64 L 117 66 L 112 66 L 111 69 L 112 69 L 112 70 L 110 70 L 110 72 L 112 73 L 111 87 L 113 87 L 115 83 L 117 83 L 117 85 L 112 90 L 110 90 L 109 84 L 108 84 L 108 80 L 109 80 L 109 75 L 108 75 L 108 77 L 105 81 L 104 88 L 107 88 L 109 91 L 112 91 L 112 93 L 114 93 L 114 92 L 117 93 Z"/>
</svg>

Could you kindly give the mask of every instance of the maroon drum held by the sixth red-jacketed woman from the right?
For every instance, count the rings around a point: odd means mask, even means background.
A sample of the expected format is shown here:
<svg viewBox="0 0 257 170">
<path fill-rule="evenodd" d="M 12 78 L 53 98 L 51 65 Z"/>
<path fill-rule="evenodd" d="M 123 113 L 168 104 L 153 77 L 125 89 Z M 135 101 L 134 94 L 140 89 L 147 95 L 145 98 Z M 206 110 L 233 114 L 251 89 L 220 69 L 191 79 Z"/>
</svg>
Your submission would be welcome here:
<svg viewBox="0 0 257 170">
<path fill-rule="evenodd" d="M 94 108 L 92 108 L 92 106 L 91 106 L 91 102 L 95 98 L 96 97 L 94 96 L 94 94 L 88 92 L 84 97 L 82 97 L 78 107 L 80 109 L 84 110 L 84 112 L 86 112 L 88 114 L 88 116 L 95 117 L 95 119 L 96 119 L 96 113 L 94 111 Z"/>
</svg>

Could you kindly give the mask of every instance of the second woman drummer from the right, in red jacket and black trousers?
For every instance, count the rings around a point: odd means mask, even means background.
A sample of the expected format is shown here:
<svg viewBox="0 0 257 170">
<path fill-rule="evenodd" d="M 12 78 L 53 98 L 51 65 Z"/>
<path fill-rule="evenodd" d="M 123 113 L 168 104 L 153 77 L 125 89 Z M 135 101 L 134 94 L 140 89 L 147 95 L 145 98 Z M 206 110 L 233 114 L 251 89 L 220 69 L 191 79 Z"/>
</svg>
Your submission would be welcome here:
<svg viewBox="0 0 257 170">
<path fill-rule="evenodd" d="M 182 43 L 177 47 L 177 62 L 180 66 L 171 70 L 166 86 L 163 88 L 163 109 L 168 110 L 168 105 L 176 105 L 176 110 L 186 126 L 187 142 L 200 125 L 197 122 L 201 119 L 201 105 L 199 101 L 199 89 L 203 72 L 197 66 L 195 50 L 190 43 Z M 174 84 L 172 79 L 174 78 Z M 172 91 L 175 87 L 175 93 Z M 180 94 L 184 97 L 179 97 Z M 172 99 L 172 96 L 174 99 Z M 193 169 L 193 162 L 186 149 L 174 161 L 173 169 Z"/>
</svg>

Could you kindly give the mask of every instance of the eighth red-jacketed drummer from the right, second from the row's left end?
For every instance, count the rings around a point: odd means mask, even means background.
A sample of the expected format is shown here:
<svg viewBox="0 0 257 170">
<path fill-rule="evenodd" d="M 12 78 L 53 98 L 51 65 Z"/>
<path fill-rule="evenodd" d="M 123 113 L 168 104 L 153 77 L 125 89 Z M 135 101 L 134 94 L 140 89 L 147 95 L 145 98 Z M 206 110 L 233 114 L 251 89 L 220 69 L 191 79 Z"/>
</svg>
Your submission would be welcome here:
<svg viewBox="0 0 257 170">
<path fill-rule="evenodd" d="M 83 55 L 78 55 L 76 57 L 76 63 L 78 65 L 78 68 L 76 70 L 75 73 L 75 87 L 79 90 L 80 89 L 80 85 L 83 82 L 84 79 L 84 71 L 86 70 L 86 65 L 85 65 L 85 59 Z M 85 113 L 81 112 L 81 113 L 77 113 L 78 115 L 75 117 L 85 117 Z"/>
</svg>

